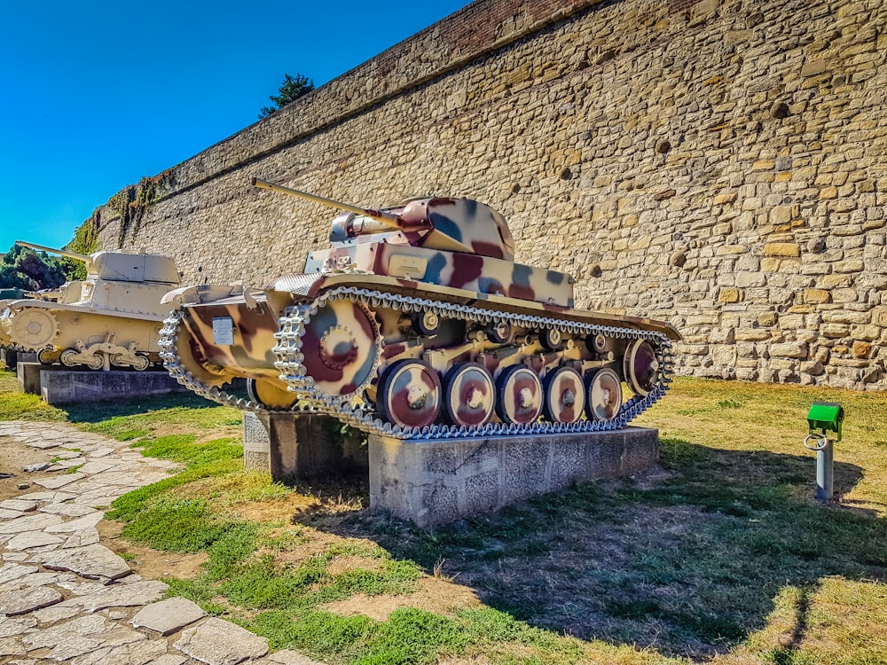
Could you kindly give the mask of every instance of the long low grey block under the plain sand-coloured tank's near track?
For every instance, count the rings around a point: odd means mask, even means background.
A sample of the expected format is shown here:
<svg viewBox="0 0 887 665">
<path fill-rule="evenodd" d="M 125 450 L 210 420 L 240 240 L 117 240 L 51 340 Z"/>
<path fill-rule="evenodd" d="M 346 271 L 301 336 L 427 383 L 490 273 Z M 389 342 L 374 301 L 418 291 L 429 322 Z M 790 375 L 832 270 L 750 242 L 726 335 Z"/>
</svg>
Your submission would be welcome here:
<svg viewBox="0 0 887 665">
<path fill-rule="evenodd" d="M 40 364 L 38 367 L 41 369 L 37 392 L 48 404 L 106 402 L 187 390 L 166 372 L 76 372 L 47 369 Z"/>
</svg>

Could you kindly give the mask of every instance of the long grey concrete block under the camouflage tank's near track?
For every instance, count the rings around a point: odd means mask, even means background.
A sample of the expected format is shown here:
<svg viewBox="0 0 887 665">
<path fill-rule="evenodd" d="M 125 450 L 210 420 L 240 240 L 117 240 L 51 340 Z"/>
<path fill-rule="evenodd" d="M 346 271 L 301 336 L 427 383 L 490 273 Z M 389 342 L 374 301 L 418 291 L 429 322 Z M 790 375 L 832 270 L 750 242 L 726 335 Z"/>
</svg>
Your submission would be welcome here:
<svg viewBox="0 0 887 665">
<path fill-rule="evenodd" d="M 421 528 L 499 508 L 574 481 L 616 478 L 659 459 L 659 433 L 616 432 L 401 441 L 369 437 L 370 507 Z"/>
</svg>

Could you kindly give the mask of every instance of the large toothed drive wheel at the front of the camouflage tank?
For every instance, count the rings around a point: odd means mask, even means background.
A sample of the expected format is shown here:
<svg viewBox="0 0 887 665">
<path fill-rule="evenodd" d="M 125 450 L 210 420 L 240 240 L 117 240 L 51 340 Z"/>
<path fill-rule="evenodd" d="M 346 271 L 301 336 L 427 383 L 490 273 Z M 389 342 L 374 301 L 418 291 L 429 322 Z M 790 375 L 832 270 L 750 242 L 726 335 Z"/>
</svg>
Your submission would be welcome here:
<svg viewBox="0 0 887 665">
<path fill-rule="evenodd" d="M 302 364 L 326 395 L 360 395 L 376 373 L 381 337 L 373 312 L 349 300 L 327 302 L 302 335 Z"/>
</svg>

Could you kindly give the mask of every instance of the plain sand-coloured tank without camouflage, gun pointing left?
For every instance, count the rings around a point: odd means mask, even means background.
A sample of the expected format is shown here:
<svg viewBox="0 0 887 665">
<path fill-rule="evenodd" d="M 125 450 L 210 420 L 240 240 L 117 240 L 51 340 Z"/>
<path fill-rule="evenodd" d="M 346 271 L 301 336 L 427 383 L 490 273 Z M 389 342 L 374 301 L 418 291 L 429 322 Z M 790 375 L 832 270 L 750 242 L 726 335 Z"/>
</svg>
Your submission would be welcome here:
<svg viewBox="0 0 887 665">
<path fill-rule="evenodd" d="M 85 279 L 43 298 L 12 300 L 0 313 L 0 344 L 36 351 L 43 364 L 146 370 L 161 364 L 161 297 L 179 284 L 176 264 L 160 254 L 75 254 L 17 241 L 86 263 Z"/>
</svg>

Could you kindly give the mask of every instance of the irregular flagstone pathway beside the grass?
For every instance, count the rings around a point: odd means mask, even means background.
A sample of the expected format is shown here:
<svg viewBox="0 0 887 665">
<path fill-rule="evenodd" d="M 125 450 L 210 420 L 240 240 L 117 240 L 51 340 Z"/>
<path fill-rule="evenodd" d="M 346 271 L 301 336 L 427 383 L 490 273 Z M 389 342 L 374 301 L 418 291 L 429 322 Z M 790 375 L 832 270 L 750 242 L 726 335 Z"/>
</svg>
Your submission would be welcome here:
<svg viewBox="0 0 887 665">
<path fill-rule="evenodd" d="M 166 583 L 99 544 L 107 506 L 175 464 L 67 423 L 0 422 L 0 445 L 29 446 L 28 469 L 58 471 L 33 481 L 20 473 L 30 487 L 0 501 L 0 663 L 318 665 L 269 653 L 265 638 L 190 600 L 161 600 Z"/>
</svg>

